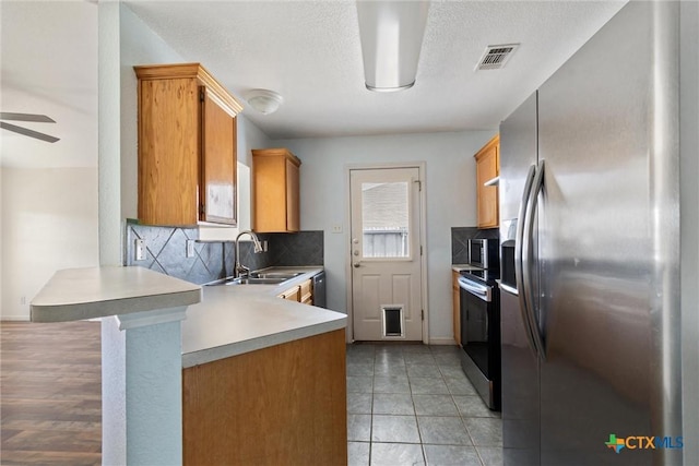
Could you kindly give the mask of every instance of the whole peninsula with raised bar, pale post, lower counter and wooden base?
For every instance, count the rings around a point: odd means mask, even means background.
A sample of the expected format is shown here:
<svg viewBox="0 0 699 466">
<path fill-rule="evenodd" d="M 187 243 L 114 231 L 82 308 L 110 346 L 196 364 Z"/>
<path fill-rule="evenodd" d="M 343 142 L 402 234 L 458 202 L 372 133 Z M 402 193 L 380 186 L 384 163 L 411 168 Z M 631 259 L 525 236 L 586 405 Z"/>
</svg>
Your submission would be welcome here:
<svg viewBox="0 0 699 466">
<path fill-rule="evenodd" d="M 321 271 L 203 289 L 141 267 L 60 271 L 32 319 L 103 319 L 109 464 L 162 463 L 168 452 L 168 464 L 340 465 L 346 315 L 277 297 Z"/>
</svg>

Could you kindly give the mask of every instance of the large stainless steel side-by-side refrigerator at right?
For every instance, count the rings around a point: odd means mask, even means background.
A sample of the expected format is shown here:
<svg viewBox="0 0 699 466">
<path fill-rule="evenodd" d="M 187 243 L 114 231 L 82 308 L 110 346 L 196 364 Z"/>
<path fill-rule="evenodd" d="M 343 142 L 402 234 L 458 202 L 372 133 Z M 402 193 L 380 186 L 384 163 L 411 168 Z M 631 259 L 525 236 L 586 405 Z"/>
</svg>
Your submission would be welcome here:
<svg viewBox="0 0 699 466">
<path fill-rule="evenodd" d="M 682 465 L 678 25 L 629 2 L 500 126 L 506 465 Z"/>
</svg>

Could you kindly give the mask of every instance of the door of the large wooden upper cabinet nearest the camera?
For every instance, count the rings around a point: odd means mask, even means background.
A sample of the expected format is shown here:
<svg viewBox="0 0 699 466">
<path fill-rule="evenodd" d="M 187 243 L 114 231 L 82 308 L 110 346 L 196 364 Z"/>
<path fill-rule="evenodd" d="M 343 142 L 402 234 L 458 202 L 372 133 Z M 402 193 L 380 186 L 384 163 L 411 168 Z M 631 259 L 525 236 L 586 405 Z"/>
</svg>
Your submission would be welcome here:
<svg viewBox="0 0 699 466">
<path fill-rule="evenodd" d="M 204 201 L 200 220 L 236 225 L 236 119 L 214 95 L 201 89 L 202 162 L 200 199 Z"/>
</svg>

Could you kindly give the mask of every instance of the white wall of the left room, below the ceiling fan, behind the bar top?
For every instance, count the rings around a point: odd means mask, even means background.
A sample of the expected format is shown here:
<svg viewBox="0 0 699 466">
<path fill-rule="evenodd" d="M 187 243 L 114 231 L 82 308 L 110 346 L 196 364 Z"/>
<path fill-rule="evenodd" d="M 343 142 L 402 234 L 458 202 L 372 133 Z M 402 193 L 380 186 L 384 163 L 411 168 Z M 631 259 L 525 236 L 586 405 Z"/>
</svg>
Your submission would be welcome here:
<svg viewBox="0 0 699 466">
<path fill-rule="evenodd" d="M 96 194 L 96 167 L 2 168 L 2 320 L 28 320 L 56 271 L 98 264 Z"/>
</svg>

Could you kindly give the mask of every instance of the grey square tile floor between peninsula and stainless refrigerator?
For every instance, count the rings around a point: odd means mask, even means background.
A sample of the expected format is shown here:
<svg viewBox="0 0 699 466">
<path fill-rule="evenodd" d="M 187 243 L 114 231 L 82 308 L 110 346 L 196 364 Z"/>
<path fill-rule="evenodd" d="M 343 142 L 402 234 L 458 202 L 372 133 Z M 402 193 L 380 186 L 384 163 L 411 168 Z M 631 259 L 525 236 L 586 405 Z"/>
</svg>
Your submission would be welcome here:
<svg viewBox="0 0 699 466">
<path fill-rule="evenodd" d="M 455 346 L 347 345 L 352 465 L 502 465 L 499 413 L 466 379 Z"/>
</svg>

